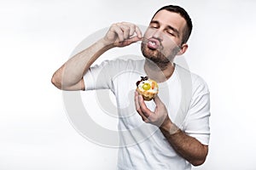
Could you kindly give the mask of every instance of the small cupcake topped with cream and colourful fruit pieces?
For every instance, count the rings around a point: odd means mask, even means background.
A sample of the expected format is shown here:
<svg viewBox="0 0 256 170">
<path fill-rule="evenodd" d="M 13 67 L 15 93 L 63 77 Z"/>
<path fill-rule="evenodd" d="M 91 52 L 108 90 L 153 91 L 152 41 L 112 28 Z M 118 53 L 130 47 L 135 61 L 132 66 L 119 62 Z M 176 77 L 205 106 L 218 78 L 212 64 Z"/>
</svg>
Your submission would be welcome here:
<svg viewBox="0 0 256 170">
<path fill-rule="evenodd" d="M 141 77 L 140 81 L 137 81 L 137 93 L 143 95 L 144 100 L 154 99 L 156 94 L 158 94 L 158 84 L 154 80 L 149 79 L 148 77 Z"/>
</svg>

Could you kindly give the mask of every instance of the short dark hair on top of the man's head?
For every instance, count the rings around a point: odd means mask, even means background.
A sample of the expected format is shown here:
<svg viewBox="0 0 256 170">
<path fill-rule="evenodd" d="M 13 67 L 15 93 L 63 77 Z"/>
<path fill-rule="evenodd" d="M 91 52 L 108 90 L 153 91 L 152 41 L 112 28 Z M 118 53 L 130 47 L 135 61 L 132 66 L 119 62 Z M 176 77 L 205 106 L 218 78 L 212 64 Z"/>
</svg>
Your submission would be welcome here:
<svg viewBox="0 0 256 170">
<path fill-rule="evenodd" d="M 189 40 L 189 37 L 190 37 L 190 34 L 191 34 L 191 31 L 192 31 L 192 20 L 190 19 L 189 17 L 189 14 L 187 13 L 187 11 L 179 6 L 176 6 L 176 5 L 166 5 L 160 9 L 158 9 L 155 13 L 154 13 L 154 16 L 155 14 L 157 14 L 160 10 L 167 10 L 167 11 L 170 11 L 170 12 L 173 12 L 173 13 L 177 13 L 177 14 L 180 14 L 183 19 L 186 20 L 187 22 L 187 26 L 185 27 L 184 31 L 183 31 L 183 39 L 182 39 L 182 43 L 185 43 L 185 42 L 188 42 Z M 153 18 L 154 18 L 153 16 Z M 153 19 L 152 18 L 152 19 Z"/>
</svg>

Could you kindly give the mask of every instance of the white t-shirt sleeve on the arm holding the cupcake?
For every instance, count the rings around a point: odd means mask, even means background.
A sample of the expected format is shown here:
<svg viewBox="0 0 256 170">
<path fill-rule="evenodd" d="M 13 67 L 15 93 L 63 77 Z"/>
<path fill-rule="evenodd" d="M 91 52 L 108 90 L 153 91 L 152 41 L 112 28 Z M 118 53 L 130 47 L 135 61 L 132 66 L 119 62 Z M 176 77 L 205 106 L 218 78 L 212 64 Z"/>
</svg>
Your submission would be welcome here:
<svg viewBox="0 0 256 170">
<path fill-rule="evenodd" d="M 210 140 L 210 92 L 207 83 L 197 77 L 193 83 L 193 97 L 184 123 L 184 132 L 198 139 L 201 144 Z"/>
</svg>

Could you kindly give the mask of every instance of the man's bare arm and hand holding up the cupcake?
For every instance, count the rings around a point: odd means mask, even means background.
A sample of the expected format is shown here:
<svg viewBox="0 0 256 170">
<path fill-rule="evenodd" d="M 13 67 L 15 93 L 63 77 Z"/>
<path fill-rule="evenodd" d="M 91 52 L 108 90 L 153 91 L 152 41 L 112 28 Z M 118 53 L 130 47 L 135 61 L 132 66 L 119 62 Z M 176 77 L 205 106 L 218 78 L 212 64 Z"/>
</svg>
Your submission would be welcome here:
<svg viewBox="0 0 256 170">
<path fill-rule="evenodd" d="M 135 105 L 143 121 L 160 127 L 160 131 L 180 156 L 194 166 L 201 165 L 206 160 L 208 146 L 179 129 L 169 118 L 166 106 L 158 96 L 154 98 L 154 103 L 155 110 L 150 111 L 144 103 L 143 96 L 136 92 Z"/>
</svg>

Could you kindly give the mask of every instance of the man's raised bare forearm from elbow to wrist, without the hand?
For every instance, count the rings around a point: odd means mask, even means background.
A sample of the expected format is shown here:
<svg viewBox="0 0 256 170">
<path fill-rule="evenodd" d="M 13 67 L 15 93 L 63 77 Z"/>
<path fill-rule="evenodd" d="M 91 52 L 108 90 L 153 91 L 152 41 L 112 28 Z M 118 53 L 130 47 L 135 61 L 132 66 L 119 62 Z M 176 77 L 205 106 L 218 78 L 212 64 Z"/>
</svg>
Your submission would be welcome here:
<svg viewBox="0 0 256 170">
<path fill-rule="evenodd" d="M 90 48 L 86 48 L 71 59 L 68 59 L 61 68 L 55 71 L 52 82 L 57 88 L 61 89 L 72 90 L 70 87 L 74 87 L 74 90 L 77 88 L 81 89 L 82 84 L 79 84 L 79 82 L 83 78 L 84 73 L 109 48 L 113 48 L 113 46 L 108 45 L 103 39 L 99 40 L 91 45 Z"/>
</svg>

